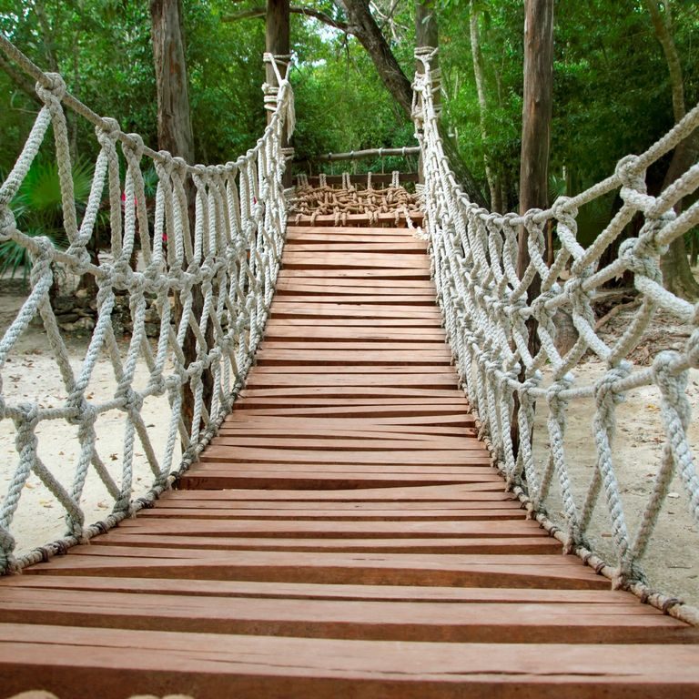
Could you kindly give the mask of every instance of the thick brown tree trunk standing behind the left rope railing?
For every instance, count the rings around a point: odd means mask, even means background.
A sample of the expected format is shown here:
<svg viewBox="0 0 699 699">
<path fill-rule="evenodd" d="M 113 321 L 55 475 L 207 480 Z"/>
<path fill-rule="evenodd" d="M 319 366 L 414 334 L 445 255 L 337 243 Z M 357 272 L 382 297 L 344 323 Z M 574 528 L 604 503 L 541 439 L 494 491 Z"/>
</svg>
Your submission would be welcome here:
<svg viewBox="0 0 699 699">
<path fill-rule="evenodd" d="M 185 40 L 182 30 L 181 0 L 150 0 L 151 35 L 153 38 L 153 59 L 156 66 L 157 86 L 157 143 L 161 150 L 173 156 L 183 157 L 188 163 L 194 162 L 194 135 L 189 114 L 189 93 L 187 86 L 187 62 Z M 189 200 L 190 231 L 194 235 L 194 191 L 187 188 Z M 201 318 L 204 298 L 201 290 L 192 289 L 192 313 L 195 319 Z M 182 318 L 182 305 L 175 295 L 175 317 Z M 209 328 L 211 324 L 208 324 Z M 210 342 L 210 335 L 207 342 Z M 183 343 L 182 351 L 187 363 L 197 360 L 197 340 L 191 329 Z M 210 372 L 202 376 L 204 381 L 204 401 L 208 405 L 213 386 Z M 194 418 L 194 395 L 187 384 L 183 387 L 182 419 L 187 427 Z M 183 443 L 183 450 L 187 444 Z"/>
</svg>

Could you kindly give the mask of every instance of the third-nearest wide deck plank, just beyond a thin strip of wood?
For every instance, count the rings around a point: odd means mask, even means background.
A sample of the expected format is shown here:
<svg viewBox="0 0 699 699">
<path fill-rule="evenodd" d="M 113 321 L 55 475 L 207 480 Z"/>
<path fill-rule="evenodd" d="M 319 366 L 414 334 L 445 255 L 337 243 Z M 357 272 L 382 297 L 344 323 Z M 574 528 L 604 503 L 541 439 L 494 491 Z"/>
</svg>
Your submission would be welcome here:
<svg viewBox="0 0 699 699">
<path fill-rule="evenodd" d="M 376 525 L 381 522 L 370 523 Z M 381 553 L 357 556 L 353 553 L 252 551 L 209 553 L 207 558 L 181 559 L 147 559 L 137 556 L 110 558 L 71 553 L 54 559 L 50 565 L 38 563 L 30 570 L 33 574 L 45 571 L 54 575 L 88 572 L 128 577 L 177 576 L 207 580 L 237 578 L 270 582 L 464 584 L 573 589 L 600 589 L 609 584 L 579 560 L 573 562 L 570 557 L 561 555 Z"/>
</svg>

